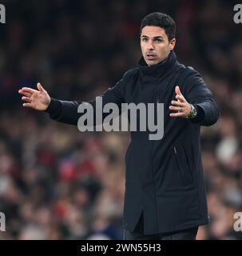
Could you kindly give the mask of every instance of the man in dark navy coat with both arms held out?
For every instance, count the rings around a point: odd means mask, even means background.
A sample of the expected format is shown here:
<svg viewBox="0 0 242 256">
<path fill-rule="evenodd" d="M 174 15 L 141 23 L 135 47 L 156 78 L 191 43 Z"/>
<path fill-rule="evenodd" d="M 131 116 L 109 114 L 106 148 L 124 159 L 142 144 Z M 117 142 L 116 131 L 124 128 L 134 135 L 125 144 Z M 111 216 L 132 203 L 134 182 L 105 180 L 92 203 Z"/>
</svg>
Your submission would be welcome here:
<svg viewBox="0 0 242 256">
<path fill-rule="evenodd" d="M 200 74 L 177 62 L 175 30 L 169 15 L 147 15 L 141 22 L 143 57 L 137 68 L 101 95 L 103 104 L 161 102 L 165 108 L 162 139 L 131 132 L 125 155 L 124 239 L 195 239 L 198 226 L 208 223 L 200 126 L 212 126 L 219 111 Z M 83 102 L 50 98 L 37 86 L 19 90 L 23 106 L 77 125 L 77 108 Z"/>
</svg>

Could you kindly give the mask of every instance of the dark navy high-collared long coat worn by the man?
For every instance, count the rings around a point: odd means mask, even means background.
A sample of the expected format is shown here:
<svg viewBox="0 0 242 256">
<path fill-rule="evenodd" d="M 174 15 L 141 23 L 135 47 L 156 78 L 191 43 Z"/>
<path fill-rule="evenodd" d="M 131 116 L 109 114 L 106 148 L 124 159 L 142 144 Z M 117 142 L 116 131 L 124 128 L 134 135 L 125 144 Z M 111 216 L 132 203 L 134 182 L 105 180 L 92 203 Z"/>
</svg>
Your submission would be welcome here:
<svg viewBox="0 0 242 256">
<path fill-rule="evenodd" d="M 177 85 L 184 98 L 195 104 L 196 118 L 169 116 Z M 147 66 L 141 58 L 137 68 L 126 72 L 115 86 L 105 91 L 102 101 L 118 106 L 122 102 L 161 102 L 165 107 L 161 140 L 149 140 L 149 130 L 131 131 L 125 154 L 125 230 L 133 231 L 141 214 L 144 234 L 186 230 L 208 223 L 200 126 L 212 126 L 219 111 L 200 74 L 177 62 L 173 51 L 164 62 L 154 66 Z M 95 101 L 89 103 L 95 106 Z M 77 125 L 81 116 L 77 113 L 79 104 L 52 99 L 47 112 L 58 122 Z"/>
</svg>

